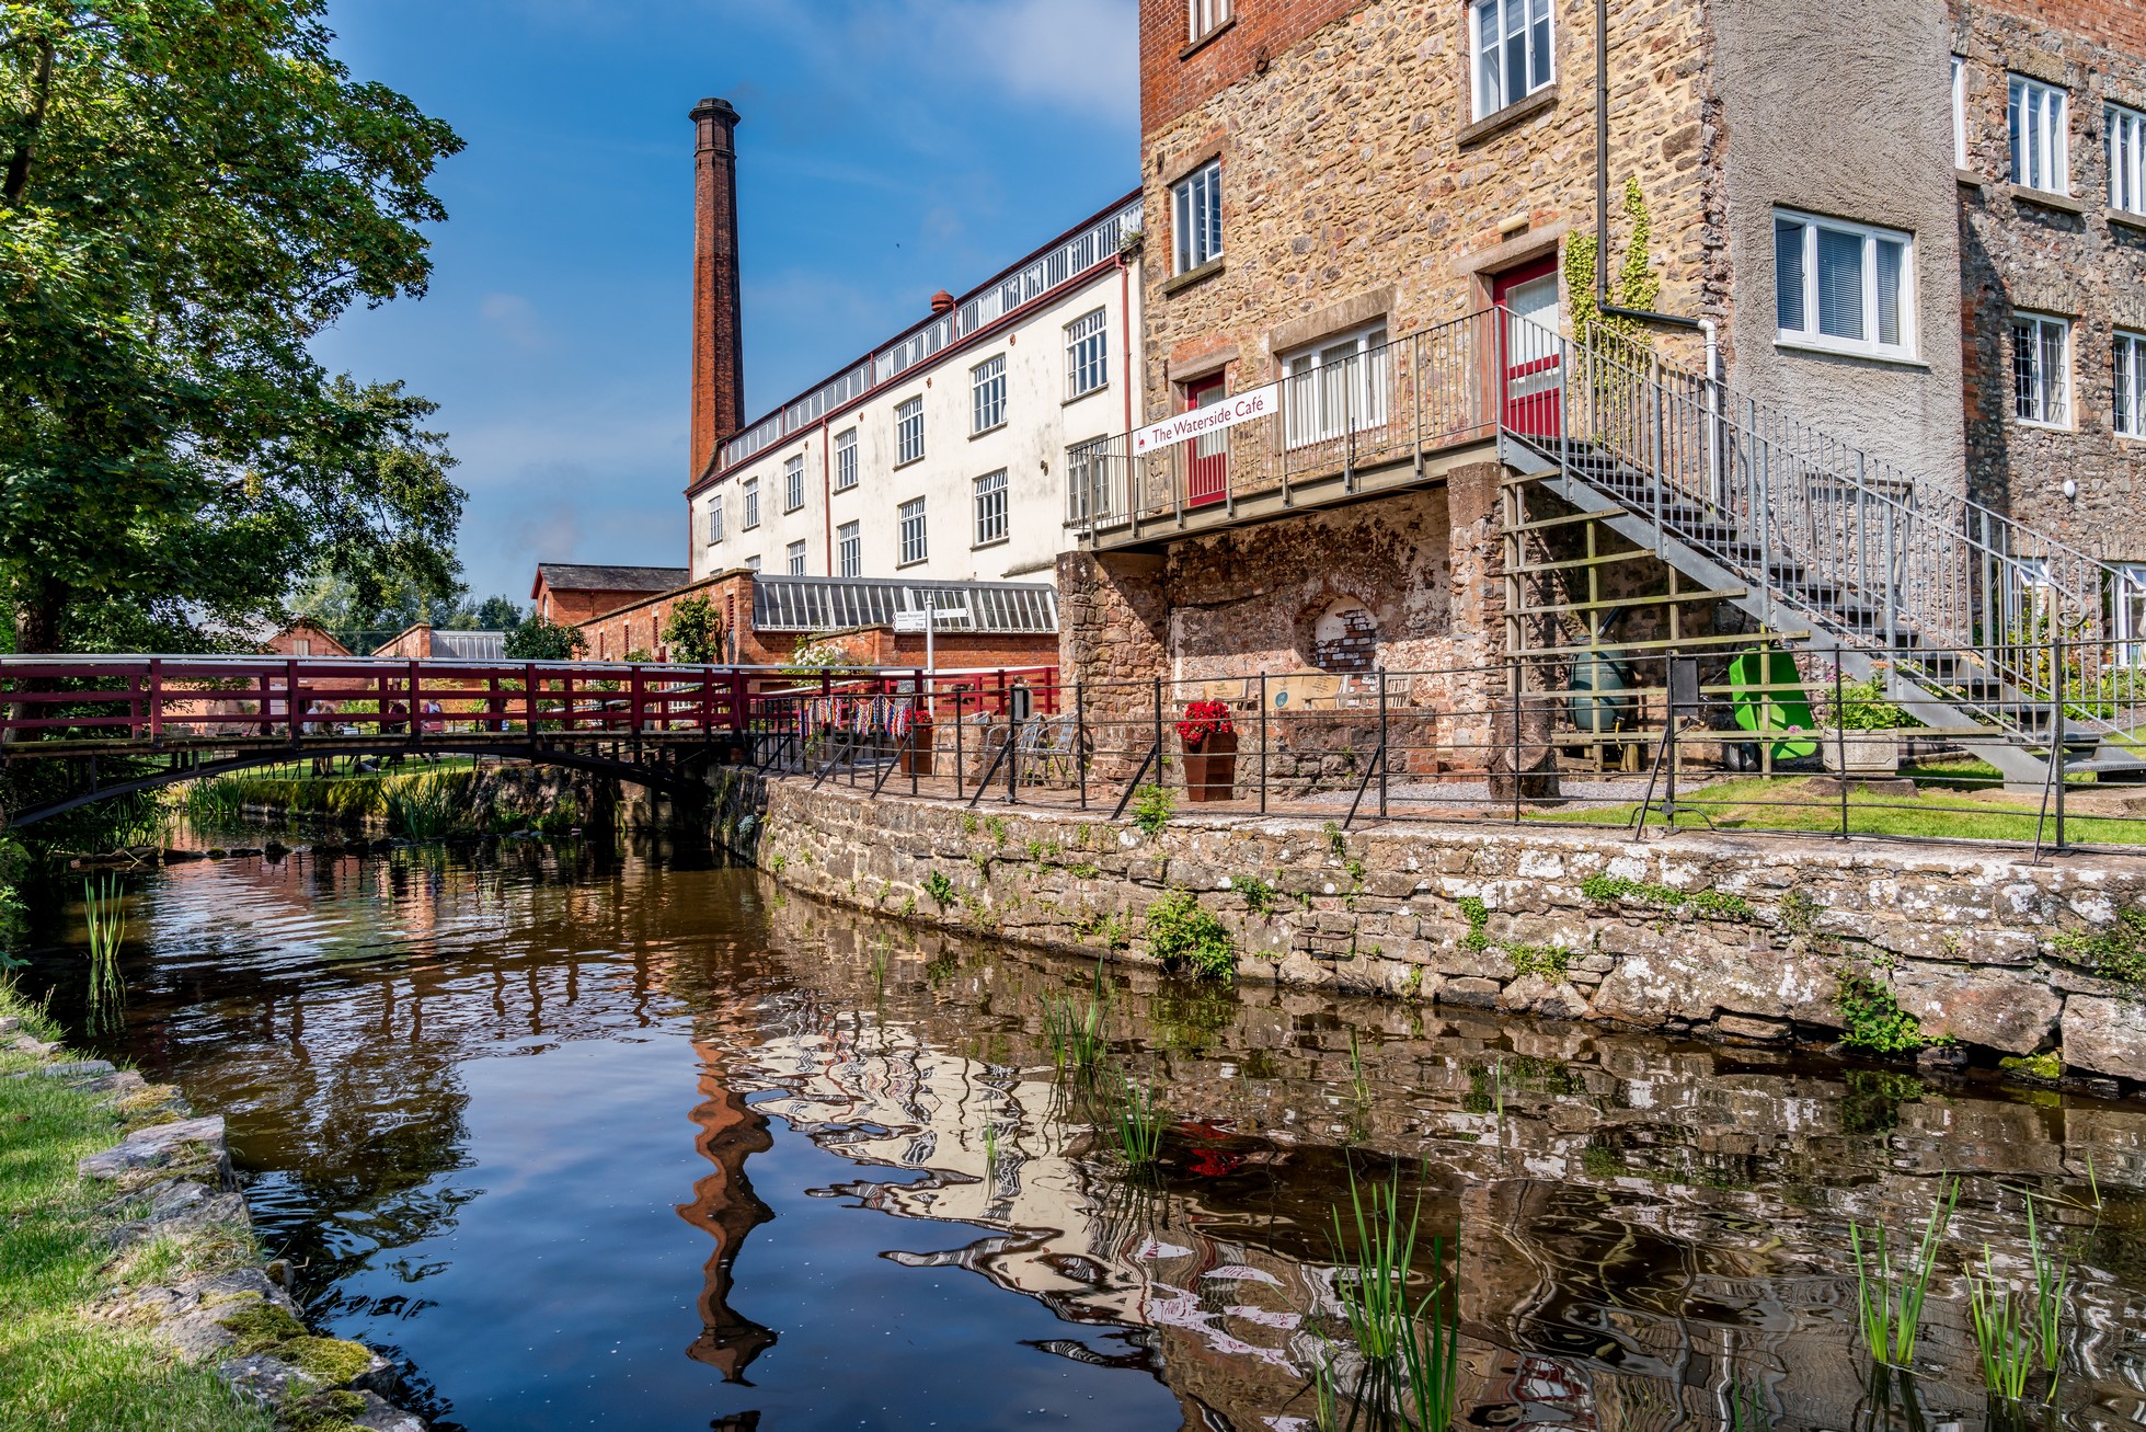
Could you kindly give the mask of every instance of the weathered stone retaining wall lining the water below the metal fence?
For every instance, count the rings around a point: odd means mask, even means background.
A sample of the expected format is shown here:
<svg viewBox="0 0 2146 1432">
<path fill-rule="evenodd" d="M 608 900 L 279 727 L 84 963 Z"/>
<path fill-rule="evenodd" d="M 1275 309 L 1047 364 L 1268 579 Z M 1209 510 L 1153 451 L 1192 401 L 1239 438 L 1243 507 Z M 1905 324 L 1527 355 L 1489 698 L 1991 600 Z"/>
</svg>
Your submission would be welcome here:
<svg viewBox="0 0 2146 1432">
<path fill-rule="evenodd" d="M 1101 814 L 725 771 L 715 829 L 822 900 L 1049 949 L 1150 960 L 1146 908 L 1197 895 L 1243 979 L 1743 1041 L 1835 1041 L 1843 977 L 1936 1041 L 1925 1058 L 2062 1050 L 2146 1080 L 2146 990 L 2097 975 L 2146 947 L 2146 859 L 1571 827 L 1378 827 Z M 2082 947 L 2101 938 L 2103 949 Z"/>
</svg>

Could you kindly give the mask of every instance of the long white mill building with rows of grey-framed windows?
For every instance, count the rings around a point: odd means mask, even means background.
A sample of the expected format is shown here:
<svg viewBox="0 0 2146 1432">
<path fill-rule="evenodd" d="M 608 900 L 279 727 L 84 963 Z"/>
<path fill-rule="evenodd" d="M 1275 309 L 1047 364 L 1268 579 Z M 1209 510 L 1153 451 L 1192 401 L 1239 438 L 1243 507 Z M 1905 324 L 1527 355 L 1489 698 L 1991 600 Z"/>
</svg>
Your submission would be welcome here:
<svg viewBox="0 0 2146 1432">
<path fill-rule="evenodd" d="M 1049 582 L 1069 464 L 1133 425 L 1140 193 L 721 442 L 693 580 Z"/>
</svg>

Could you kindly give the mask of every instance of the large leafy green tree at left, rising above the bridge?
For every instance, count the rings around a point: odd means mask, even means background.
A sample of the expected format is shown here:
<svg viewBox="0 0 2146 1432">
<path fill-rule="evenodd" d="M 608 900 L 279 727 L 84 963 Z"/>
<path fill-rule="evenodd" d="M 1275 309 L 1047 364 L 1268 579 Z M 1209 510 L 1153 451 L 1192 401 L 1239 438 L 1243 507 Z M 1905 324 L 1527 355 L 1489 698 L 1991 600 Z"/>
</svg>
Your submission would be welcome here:
<svg viewBox="0 0 2146 1432">
<path fill-rule="evenodd" d="M 0 0 L 0 597 L 56 651 L 277 620 L 292 573 L 455 588 L 433 404 L 326 374 L 418 296 L 461 140 L 324 0 Z"/>
</svg>

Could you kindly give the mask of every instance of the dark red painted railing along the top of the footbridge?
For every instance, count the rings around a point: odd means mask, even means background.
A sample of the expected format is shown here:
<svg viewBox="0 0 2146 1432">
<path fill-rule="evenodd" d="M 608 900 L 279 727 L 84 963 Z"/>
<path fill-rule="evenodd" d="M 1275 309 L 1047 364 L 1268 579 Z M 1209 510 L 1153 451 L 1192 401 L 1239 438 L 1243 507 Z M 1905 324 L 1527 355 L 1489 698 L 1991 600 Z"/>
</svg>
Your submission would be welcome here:
<svg viewBox="0 0 2146 1432">
<path fill-rule="evenodd" d="M 367 657 L 0 657 L 0 743 L 52 754 L 172 741 L 292 745 L 427 736 L 717 736 L 792 726 L 809 702 L 1056 708 L 1056 668 L 843 670 Z"/>
</svg>

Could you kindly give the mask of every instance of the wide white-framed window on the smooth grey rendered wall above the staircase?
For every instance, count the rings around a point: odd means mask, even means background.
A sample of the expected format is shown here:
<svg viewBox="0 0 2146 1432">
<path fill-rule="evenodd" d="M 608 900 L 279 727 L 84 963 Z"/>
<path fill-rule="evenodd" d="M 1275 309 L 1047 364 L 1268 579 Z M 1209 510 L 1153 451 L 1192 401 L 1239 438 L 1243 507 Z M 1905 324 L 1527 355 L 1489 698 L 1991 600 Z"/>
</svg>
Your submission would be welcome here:
<svg viewBox="0 0 2146 1432">
<path fill-rule="evenodd" d="M 1914 356 L 1914 238 L 1846 219 L 1773 215 L 1775 328 L 1783 344 Z"/>
</svg>

